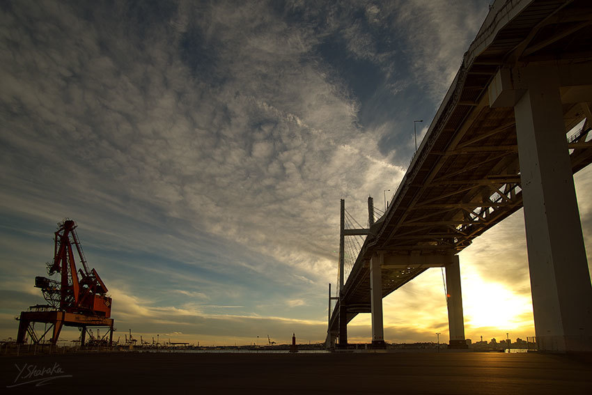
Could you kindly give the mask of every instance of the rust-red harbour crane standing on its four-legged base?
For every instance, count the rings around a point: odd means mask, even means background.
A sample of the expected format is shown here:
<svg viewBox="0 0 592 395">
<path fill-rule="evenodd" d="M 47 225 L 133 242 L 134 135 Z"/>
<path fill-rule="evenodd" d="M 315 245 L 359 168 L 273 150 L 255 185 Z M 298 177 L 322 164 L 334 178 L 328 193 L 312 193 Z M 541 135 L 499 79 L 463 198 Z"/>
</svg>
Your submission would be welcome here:
<svg viewBox="0 0 592 395">
<path fill-rule="evenodd" d="M 88 269 L 75 231 L 76 223 L 65 219 L 58 226 L 54 238 L 54 259 L 47 263 L 47 273 L 50 276 L 60 274 L 61 280 L 35 278 L 35 286 L 41 289 L 48 304 L 38 304 L 30 307 L 29 311 L 21 312 L 17 343 L 25 343 L 26 334 L 31 336 L 33 343 L 43 341 L 49 330 L 37 336 L 34 325 L 49 323 L 52 325 L 49 329 L 53 327 L 53 344 L 58 341 L 61 328 L 65 325 L 81 329 L 81 346 L 84 346 L 88 327 L 108 327 L 103 339 L 109 334 L 111 345 L 114 320 L 111 318 L 111 297 L 107 295 L 107 286 L 95 269 Z M 75 250 L 83 266 L 80 270 L 76 269 Z"/>
</svg>

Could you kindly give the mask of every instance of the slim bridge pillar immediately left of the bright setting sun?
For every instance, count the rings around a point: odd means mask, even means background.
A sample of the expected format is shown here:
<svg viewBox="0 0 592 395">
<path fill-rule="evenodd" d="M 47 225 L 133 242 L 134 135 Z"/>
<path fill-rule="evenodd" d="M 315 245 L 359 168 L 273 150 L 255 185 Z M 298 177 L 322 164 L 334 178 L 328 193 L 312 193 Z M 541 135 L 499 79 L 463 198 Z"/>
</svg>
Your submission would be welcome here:
<svg viewBox="0 0 592 395">
<path fill-rule="evenodd" d="M 462 316 L 462 290 L 460 288 L 460 265 L 458 255 L 446 266 L 446 304 L 448 305 L 448 327 L 450 348 L 467 348 L 465 341 L 465 319 Z"/>
</svg>

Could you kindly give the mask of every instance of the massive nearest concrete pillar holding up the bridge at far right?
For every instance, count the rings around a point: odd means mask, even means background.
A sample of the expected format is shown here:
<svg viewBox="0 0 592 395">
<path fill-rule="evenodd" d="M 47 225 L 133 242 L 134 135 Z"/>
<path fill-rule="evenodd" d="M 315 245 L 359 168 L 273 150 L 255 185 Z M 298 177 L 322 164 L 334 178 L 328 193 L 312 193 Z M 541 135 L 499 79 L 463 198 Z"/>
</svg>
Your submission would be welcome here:
<svg viewBox="0 0 592 395">
<path fill-rule="evenodd" d="M 554 67 L 521 70 L 515 104 L 536 338 L 540 350 L 592 351 L 592 286 Z"/>
</svg>

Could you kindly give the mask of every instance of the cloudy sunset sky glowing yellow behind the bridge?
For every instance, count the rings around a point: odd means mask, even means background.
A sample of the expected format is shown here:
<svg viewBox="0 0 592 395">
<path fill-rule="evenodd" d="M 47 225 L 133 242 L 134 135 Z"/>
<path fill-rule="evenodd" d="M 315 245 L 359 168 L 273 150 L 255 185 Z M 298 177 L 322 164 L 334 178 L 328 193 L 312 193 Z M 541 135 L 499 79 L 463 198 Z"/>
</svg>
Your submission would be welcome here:
<svg viewBox="0 0 592 395">
<path fill-rule="evenodd" d="M 391 197 L 489 3 L 1 1 L 0 339 L 44 302 L 34 277 L 68 217 L 114 339 L 324 341 L 339 199 L 364 222 L 369 195 Z M 534 335 L 522 210 L 460 264 L 467 338 Z M 436 332 L 430 269 L 384 298 L 384 335 Z M 371 341 L 370 315 L 348 334 Z"/>
</svg>

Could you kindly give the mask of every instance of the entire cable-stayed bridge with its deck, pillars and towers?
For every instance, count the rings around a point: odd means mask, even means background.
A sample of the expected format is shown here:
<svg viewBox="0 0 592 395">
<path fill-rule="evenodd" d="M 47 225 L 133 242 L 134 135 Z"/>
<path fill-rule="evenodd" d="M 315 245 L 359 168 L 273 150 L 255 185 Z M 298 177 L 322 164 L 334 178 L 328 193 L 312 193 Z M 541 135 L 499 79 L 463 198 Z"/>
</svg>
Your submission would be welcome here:
<svg viewBox="0 0 592 395">
<path fill-rule="evenodd" d="M 450 346 L 463 348 L 458 253 L 524 207 L 539 350 L 592 351 L 592 286 L 573 173 L 592 162 L 592 3 L 497 0 L 387 211 L 345 229 L 327 346 L 382 298 L 428 268 L 445 268 Z M 344 240 L 364 241 L 346 281 Z M 330 288 L 329 288 L 330 289 Z M 331 306 L 329 291 L 329 307 Z M 330 310 L 330 309 L 329 309 Z"/>
</svg>

